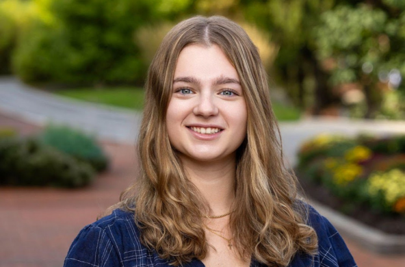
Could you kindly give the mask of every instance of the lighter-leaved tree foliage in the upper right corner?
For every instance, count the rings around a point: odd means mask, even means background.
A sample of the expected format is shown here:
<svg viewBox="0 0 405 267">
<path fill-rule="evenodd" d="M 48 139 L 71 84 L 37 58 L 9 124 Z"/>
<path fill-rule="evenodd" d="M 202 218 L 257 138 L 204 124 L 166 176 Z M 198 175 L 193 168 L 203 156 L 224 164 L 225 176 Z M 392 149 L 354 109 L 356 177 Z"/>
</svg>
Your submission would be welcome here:
<svg viewBox="0 0 405 267">
<path fill-rule="evenodd" d="M 378 113 L 384 89 L 402 90 L 399 79 L 405 75 L 405 9 L 384 2 L 339 5 L 324 12 L 313 30 L 317 59 L 328 62 L 330 86 L 359 84 L 367 118 Z"/>
</svg>

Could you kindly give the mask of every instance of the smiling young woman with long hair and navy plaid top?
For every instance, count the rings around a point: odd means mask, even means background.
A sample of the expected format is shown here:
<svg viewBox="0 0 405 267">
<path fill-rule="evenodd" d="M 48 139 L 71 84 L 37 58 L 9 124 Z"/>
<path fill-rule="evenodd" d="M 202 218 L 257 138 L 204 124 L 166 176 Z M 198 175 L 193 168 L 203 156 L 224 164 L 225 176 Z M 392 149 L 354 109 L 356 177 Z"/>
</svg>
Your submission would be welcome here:
<svg viewBox="0 0 405 267">
<path fill-rule="evenodd" d="M 149 68 L 141 170 L 65 266 L 356 266 L 283 164 L 266 73 L 236 23 L 197 16 Z"/>
</svg>

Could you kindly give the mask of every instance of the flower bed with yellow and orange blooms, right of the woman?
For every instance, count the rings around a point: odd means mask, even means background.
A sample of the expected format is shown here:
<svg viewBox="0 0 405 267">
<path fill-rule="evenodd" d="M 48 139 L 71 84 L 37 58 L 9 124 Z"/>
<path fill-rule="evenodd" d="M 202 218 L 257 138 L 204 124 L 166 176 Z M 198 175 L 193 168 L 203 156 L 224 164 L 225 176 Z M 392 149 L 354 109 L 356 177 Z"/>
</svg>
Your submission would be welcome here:
<svg viewBox="0 0 405 267">
<path fill-rule="evenodd" d="M 300 147 L 296 170 L 310 198 L 405 234 L 405 136 L 317 136 Z"/>
</svg>

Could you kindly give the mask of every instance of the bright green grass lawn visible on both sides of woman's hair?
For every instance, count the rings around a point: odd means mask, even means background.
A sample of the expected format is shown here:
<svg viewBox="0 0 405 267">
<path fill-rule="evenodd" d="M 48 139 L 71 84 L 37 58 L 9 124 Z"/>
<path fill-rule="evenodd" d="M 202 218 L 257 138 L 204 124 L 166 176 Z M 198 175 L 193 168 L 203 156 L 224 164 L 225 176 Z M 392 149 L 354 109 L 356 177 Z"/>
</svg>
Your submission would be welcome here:
<svg viewBox="0 0 405 267">
<path fill-rule="evenodd" d="M 64 97 L 116 107 L 126 107 L 131 110 L 142 110 L 144 107 L 144 90 L 142 88 L 79 88 L 61 90 L 56 93 Z M 300 118 L 300 110 L 276 101 L 272 101 L 272 104 L 278 120 L 298 120 Z"/>
</svg>

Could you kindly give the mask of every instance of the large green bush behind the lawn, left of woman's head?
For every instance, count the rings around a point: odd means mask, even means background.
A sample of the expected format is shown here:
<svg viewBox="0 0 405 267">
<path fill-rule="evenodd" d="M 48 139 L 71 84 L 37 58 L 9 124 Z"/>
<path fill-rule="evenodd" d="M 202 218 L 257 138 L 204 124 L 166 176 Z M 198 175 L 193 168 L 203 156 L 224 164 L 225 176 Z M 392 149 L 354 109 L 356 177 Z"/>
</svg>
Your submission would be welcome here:
<svg viewBox="0 0 405 267">
<path fill-rule="evenodd" d="M 37 8 L 49 5 L 38 1 Z M 55 23 L 24 31 L 13 66 L 25 81 L 62 84 L 142 84 L 146 66 L 133 41 L 150 20 L 146 0 L 52 0 Z M 56 60 L 55 60 L 56 59 Z"/>
</svg>

